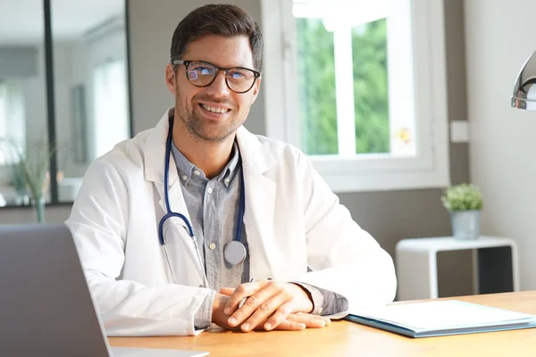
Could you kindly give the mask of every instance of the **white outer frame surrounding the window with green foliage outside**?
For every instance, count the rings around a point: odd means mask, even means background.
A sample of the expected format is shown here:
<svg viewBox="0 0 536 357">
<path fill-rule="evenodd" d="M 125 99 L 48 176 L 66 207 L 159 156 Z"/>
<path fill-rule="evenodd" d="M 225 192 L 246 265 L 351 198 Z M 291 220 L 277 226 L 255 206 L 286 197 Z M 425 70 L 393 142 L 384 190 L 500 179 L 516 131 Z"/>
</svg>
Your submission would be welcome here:
<svg viewBox="0 0 536 357">
<path fill-rule="evenodd" d="M 336 193 L 450 184 L 443 0 L 412 0 L 411 8 L 417 155 L 310 155 Z M 266 134 L 300 147 L 292 0 L 261 0 L 261 10 Z"/>
</svg>

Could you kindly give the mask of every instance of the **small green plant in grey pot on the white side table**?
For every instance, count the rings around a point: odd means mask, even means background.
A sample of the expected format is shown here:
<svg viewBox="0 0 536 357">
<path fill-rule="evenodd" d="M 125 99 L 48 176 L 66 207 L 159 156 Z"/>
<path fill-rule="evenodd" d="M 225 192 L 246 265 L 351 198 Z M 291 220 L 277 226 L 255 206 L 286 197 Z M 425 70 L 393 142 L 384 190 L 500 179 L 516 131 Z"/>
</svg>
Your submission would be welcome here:
<svg viewBox="0 0 536 357">
<path fill-rule="evenodd" d="M 452 235 L 458 239 L 477 239 L 480 236 L 482 193 L 472 184 L 448 187 L 441 201 L 450 212 Z"/>
</svg>

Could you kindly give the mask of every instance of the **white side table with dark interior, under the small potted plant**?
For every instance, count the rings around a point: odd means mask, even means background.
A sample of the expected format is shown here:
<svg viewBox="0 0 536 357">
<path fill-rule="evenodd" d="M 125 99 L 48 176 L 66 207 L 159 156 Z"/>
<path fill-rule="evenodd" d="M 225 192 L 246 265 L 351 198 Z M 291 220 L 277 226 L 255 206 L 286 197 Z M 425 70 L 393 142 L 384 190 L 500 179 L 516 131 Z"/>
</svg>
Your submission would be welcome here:
<svg viewBox="0 0 536 357">
<path fill-rule="evenodd" d="M 511 259 L 490 257 L 488 249 L 509 247 Z M 396 264 L 398 277 L 398 300 L 433 299 L 438 297 L 437 253 L 443 251 L 473 250 L 473 282 L 474 294 L 480 294 L 482 274 L 479 272 L 479 256 L 488 254 L 493 261 L 494 271 L 509 271 L 511 277 L 509 291 L 519 291 L 519 266 L 517 245 L 510 238 L 479 237 L 476 240 L 459 240 L 454 237 L 432 237 L 403 239 L 396 247 Z M 484 254 L 482 254 L 484 253 Z M 498 262 L 502 261 L 502 262 Z M 502 265 L 501 265 L 502 264 Z M 505 265 L 506 264 L 506 265 Z M 511 266 L 510 266 L 511 264 Z M 494 280 L 495 279 L 495 280 Z M 496 281 L 497 277 L 488 277 L 486 281 Z"/>
</svg>

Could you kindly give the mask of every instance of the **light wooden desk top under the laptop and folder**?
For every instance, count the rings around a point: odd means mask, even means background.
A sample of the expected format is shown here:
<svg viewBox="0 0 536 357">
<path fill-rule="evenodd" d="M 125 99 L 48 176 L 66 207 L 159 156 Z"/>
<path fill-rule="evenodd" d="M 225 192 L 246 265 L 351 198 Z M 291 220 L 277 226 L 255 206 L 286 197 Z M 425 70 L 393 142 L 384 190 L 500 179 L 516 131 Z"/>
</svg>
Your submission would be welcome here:
<svg viewBox="0 0 536 357">
<path fill-rule="evenodd" d="M 452 298 L 450 298 L 452 299 Z M 536 315 L 536 291 L 456 297 Z M 196 337 L 110 337 L 122 347 L 209 351 L 210 356 L 533 356 L 536 328 L 409 338 L 348 321 L 300 332 L 204 332 Z"/>
</svg>

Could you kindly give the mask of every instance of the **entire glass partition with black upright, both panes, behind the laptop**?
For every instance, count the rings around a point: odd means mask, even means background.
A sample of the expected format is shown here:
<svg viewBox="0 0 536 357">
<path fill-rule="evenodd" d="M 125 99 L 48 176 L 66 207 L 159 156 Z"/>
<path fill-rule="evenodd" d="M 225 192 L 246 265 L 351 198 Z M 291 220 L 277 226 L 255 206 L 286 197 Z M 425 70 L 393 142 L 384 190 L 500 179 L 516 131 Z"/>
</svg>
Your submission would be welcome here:
<svg viewBox="0 0 536 357">
<path fill-rule="evenodd" d="M 0 207 L 71 203 L 90 162 L 130 137 L 125 0 L 0 0 Z M 54 178 L 54 179 L 51 179 Z"/>
</svg>

